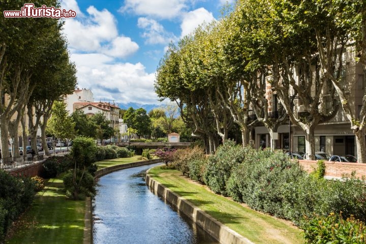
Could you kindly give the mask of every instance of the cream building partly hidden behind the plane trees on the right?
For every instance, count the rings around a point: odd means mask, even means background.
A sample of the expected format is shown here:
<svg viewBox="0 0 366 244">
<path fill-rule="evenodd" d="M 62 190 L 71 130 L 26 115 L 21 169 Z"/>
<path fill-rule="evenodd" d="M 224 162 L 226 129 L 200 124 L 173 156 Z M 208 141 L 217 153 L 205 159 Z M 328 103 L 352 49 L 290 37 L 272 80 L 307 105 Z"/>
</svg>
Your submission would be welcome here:
<svg viewBox="0 0 366 244">
<path fill-rule="evenodd" d="M 352 52 L 346 52 L 344 54 L 344 68 L 342 69 L 342 81 L 343 89 L 346 91 L 349 97 L 349 102 L 355 114 L 358 116 L 362 106 L 362 97 L 365 93 L 366 79 L 363 73 L 362 65 L 357 63 L 352 56 Z M 295 80 L 297 79 L 295 75 Z M 331 102 L 332 97 L 330 94 L 322 93 L 324 103 L 320 105 L 320 109 L 328 109 L 328 103 Z M 337 96 L 337 94 L 335 94 Z M 277 100 L 276 94 L 272 94 L 270 84 L 266 88 L 266 98 L 269 101 L 269 110 L 276 112 L 277 106 L 281 106 Z M 293 111 L 302 112 L 303 106 L 300 105 L 297 100 L 294 100 Z M 278 139 L 275 140 L 275 148 L 281 148 L 291 151 L 305 151 L 305 136 L 303 131 L 291 125 L 281 125 L 277 131 Z M 291 138 L 289 140 L 289 135 Z M 261 142 L 266 147 L 269 144 L 269 132 L 264 126 L 255 127 L 252 133 L 252 138 L 255 140 L 256 148 L 259 148 Z M 291 143 L 289 149 L 289 141 Z M 355 145 L 355 136 L 351 130 L 351 124 L 345 116 L 342 108 L 338 113 L 327 123 L 320 124 L 315 129 L 315 151 L 325 151 L 329 155 L 356 155 L 357 148 Z"/>
</svg>

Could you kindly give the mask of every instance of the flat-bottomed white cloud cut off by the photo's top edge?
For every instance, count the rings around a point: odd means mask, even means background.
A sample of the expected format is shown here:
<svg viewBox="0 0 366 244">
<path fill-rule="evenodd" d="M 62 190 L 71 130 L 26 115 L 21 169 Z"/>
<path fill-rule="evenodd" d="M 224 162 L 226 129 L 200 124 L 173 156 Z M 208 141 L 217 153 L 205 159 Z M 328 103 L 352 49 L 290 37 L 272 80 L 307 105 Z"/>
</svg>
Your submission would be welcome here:
<svg viewBox="0 0 366 244">
<path fill-rule="evenodd" d="M 171 19 L 179 16 L 181 11 L 187 8 L 186 2 L 186 0 L 125 0 L 125 5 L 118 11 Z"/>
</svg>

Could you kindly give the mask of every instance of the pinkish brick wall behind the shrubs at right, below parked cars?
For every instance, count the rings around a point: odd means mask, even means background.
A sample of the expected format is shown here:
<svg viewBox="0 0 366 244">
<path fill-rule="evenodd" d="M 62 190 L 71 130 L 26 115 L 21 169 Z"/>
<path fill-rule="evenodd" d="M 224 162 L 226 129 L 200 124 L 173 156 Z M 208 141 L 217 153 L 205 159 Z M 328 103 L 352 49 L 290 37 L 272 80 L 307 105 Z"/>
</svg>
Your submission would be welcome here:
<svg viewBox="0 0 366 244">
<path fill-rule="evenodd" d="M 299 160 L 299 163 L 309 173 L 317 167 L 317 161 Z M 366 176 L 366 164 L 325 162 L 325 176 L 342 177 L 343 174 L 351 174 L 352 171 L 356 172 L 357 177 Z"/>
</svg>

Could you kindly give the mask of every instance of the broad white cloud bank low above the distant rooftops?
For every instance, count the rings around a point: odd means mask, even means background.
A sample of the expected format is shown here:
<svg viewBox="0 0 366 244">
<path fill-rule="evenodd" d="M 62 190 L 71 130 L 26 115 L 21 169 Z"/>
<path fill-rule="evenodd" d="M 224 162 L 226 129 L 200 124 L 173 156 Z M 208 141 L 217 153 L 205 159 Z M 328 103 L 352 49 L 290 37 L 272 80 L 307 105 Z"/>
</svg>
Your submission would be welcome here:
<svg viewBox="0 0 366 244">
<path fill-rule="evenodd" d="M 77 66 L 78 86 L 91 89 L 95 101 L 157 104 L 154 73 L 147 73 L 141 63 L 111 64 L 104 54 L 72 54 Z"/>
</svg>

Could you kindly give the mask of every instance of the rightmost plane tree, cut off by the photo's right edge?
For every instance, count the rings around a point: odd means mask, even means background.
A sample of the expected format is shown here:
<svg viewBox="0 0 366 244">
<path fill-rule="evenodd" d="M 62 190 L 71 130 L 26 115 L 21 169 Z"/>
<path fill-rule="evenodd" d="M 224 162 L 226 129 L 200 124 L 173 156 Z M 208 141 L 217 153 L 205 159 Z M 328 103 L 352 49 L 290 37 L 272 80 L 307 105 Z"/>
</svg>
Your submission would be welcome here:
<svg viewBox="0 0 366 244">
<path fill-rule="evenodd" d="M 366 163 L 366 89 L 362 84 L 366 75 L 366 4 L 356 0 L 308 1 L 303 9 L 307 24 L 315 32 L 321 73 L 331 81 L 351 124 L 358 162 Z M 356 77 L 353 85 L 346 79 L 349 64 L 355 70 L 360 64 L 363 70 L 363 79 Z M 351 90 L 357 86 L 363 90 L 354 94 Z M 360 104 L 356 104 L 357 97 L 362 101 Z"/>
</svg>

